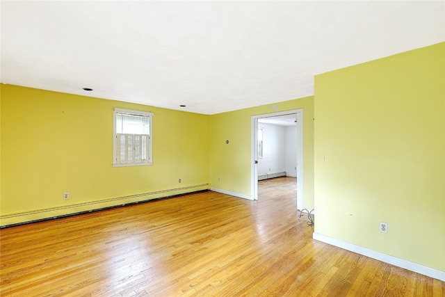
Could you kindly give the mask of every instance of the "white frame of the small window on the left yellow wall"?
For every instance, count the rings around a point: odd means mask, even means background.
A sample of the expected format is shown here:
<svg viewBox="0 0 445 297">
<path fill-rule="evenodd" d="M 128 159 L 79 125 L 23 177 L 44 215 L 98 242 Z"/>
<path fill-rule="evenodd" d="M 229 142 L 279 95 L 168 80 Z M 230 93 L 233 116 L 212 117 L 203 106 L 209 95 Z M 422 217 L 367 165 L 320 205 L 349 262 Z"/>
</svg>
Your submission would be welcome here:
<svg viewBox="0 0 445 297">
<path fill-rule="evenodd" d="M 128 115 L 140 115 L 140 116 L 148 117 L 149 118 L 149 134 L 118 134 L 116 131 L 116 115 L 118 113 L 124 113 L 124 114 L 128 114 Z M 149 113 L 147 111 L 133 111 L 131 109 L 118 109 L 118 108 L 114 109 L 114 111 L 113 111 L 113 166 L 114 167 L 147 166 L 147 165 L 153 164 L 153 116 L 154 116 L 154 113 Z M 131 162 L 120 161 L 119 155 L 118 155 L 118 150 L 120 148 L 120 147 L 118 147 L 118 138 L 122 137 L 122 136 L 124 136 L 126 138 L 129 137 L 129 138 L 133 139 L 133 145 L 131 145 L 131 147 L 133 147 L 135 150 L 136 150 L 136 145 L 134 145 L 135 137 L 131 137 L 131 136 L 136 136 L 136 137 L 145 136 L 145 137 L 147 137 L 147 143 L 146 143 L 147 159 L 141 160 L 139 162 L 135 162 L 134 159 Z"/>
</svg>

